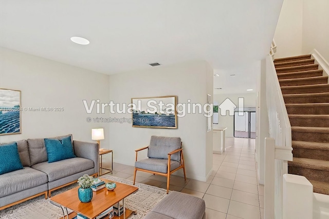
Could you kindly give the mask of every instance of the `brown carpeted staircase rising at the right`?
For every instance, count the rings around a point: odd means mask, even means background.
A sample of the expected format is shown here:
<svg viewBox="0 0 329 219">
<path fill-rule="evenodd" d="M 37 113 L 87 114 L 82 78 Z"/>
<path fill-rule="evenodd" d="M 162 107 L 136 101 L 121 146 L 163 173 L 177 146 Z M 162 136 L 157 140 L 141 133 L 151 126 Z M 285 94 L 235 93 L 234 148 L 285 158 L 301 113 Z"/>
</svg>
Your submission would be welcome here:
<svg viewBox="0 0 329 219">
<path fill-rule="evenodd" d="M 303 175 L 314 192 L 329 195 L 329 84 L 311 55 L 274 61 L 291 124 L 294 160 L 288 173 Z"/>
</svg>

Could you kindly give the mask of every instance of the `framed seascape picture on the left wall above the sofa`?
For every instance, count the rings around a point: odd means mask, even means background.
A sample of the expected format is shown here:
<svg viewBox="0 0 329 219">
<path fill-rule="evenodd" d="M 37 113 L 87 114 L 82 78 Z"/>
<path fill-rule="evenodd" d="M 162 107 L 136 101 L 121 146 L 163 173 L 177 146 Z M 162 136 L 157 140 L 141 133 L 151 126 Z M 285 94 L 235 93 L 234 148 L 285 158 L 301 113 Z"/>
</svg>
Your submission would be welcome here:
<svg viewBox="0 0 329 219">
<path fill-rule="evenodd" d="M 21 131 L 21 91 L 0 88 L 0 135 Z"/>
</svg>

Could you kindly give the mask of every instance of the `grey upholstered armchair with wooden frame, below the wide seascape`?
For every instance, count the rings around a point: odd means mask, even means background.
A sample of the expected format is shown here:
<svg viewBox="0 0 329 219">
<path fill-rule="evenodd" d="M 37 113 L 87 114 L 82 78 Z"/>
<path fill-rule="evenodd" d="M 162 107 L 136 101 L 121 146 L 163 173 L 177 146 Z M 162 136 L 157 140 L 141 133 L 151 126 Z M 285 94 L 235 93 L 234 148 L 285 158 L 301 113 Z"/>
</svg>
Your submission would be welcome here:
<svg viewBox="0 0 329 219">
<path fill-rule="evenodd" d="M 137 161 L 138 151 L 148 149 L 148 157 Z M 136 172 L 144 171 L 167 177 L 167 194 L 169 192 L 170 174 L 176 170 L 183 169 L 186 180 L 183 149 L 181 148 L 180 137 L 151 136 L 150 146 L 143 147 L 136 151 L 134 185 Z"/>
</svg>

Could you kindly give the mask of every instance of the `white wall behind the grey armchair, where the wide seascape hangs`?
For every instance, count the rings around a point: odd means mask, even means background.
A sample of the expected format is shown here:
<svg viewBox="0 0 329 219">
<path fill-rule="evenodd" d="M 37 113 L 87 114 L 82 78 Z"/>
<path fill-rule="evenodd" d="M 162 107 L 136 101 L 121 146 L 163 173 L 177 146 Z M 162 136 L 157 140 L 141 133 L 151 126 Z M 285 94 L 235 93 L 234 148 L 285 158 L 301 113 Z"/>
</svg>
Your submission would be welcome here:
<svg viewBox="0 0 329 219">
<path fill-rule="evenodd" d="M 207 103 L 207 93 L 213 92 L 213 70 L 204 61 L 188 62 L 170 67 L 158 66 L 110 75 L 109 94 L 114 103 L 131 103 L 132 97 L 177 95 L 178 103 Z M 131 118 L 129 113 L 114 113 L 111 117 Z M 110 146 L 114 161 L 134 165 L 135 151 L 149 145 L 151 135 L 179 136 L 184 147 L 187 177 L 205 181 L 212 168 L 212 132 L 207 133 L 207 118 L 203 114 L 178 117 L 177 129 L 139 128 L 130 123 L 110 123 Z M 147 150 L 139 153 L 145 158 Z M 182 175 L 182 171 L 177 171 Z"/>
</svg>

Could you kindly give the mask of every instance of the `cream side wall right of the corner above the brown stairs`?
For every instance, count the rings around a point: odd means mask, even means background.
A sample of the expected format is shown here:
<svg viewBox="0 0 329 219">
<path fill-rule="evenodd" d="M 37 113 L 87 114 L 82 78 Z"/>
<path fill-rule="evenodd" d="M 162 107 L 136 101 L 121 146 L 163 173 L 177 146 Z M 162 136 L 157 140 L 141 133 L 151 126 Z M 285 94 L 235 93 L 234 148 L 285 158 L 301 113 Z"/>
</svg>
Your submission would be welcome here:
<svg viewBox="0 0 329 219">
<path fill-rule="evenodd" d="M 329 61 L 329 1 L 303 1 L 303 45 L 302 52 L 307 54 L 313 49 Z"/>
</svg>

